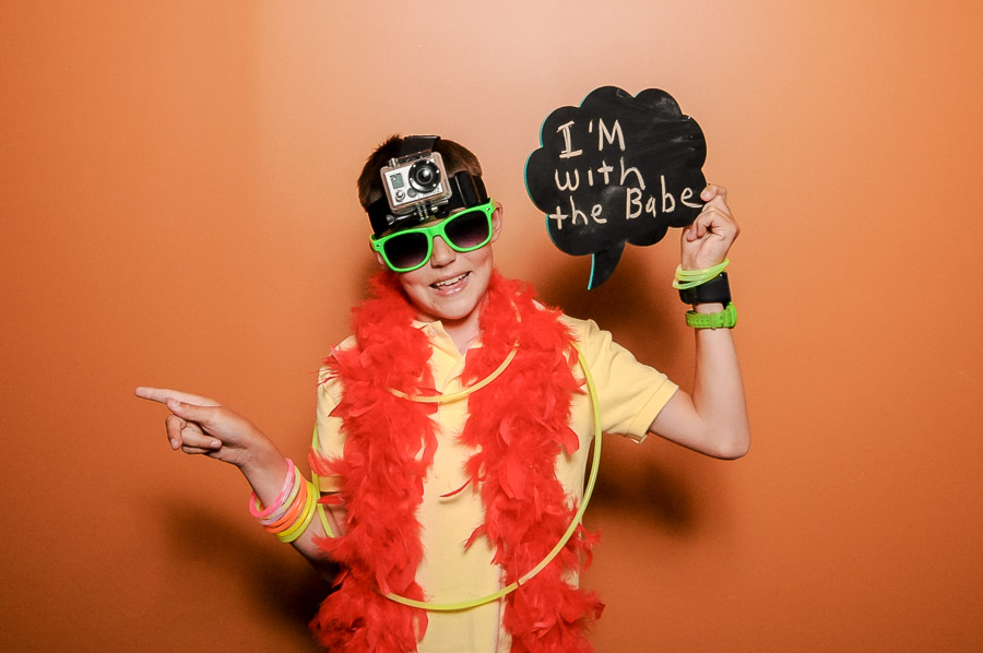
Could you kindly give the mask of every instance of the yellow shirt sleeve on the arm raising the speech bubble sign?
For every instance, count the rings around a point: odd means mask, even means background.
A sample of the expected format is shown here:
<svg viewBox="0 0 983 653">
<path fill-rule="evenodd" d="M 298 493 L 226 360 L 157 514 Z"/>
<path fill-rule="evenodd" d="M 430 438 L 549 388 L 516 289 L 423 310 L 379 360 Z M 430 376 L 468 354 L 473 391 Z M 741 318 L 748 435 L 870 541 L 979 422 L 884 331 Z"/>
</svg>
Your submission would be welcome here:
<svg viewBox="0 0 983 653">
<path fill-rule="evenodd" d="M 639 363 L 593 320 L 564 319 L 572 328 L 594 379 L 602 430 L 641 442 L 679 387 L 659 370 Z M 578 371 L 578 377 L 581 375 Z"/>
</svg>

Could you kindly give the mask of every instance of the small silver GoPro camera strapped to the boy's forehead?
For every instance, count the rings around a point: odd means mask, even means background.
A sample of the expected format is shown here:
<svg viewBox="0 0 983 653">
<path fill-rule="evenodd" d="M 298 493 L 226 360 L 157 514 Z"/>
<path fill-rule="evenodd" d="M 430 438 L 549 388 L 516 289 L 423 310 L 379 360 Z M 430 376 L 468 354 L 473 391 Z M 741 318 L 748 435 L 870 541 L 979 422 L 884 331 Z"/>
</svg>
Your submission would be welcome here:
<svg viewBox="0 0 983 653">
<path fill-rule="evenodd" d="M 447 170 L 439 152 L 417 152 L 392 158 L 381 170 L 389 207 L 396 215 L 433 213 L 450 200 Z"/>
</svg>

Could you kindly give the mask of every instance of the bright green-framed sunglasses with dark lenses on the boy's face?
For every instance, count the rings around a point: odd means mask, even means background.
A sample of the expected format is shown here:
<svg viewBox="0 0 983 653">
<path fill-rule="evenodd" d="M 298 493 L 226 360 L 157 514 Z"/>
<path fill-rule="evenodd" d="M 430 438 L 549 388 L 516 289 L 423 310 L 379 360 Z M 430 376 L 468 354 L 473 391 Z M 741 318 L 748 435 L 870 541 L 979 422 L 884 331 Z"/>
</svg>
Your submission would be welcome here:
<svg viewBox="0 0 983 653">
<path fill-rule="evenodd" d="M 428 227 L 414 227 L 371 238 L 372 249 L 393 272 L 413 272 L 424 266 L 434 253 L 434 237 L 440 236 L 451 249 L 460 252 L 474 251 L 492 241 L 492 214 L 495 203 L 489 199 L 484 204 L 465 209 Z"/>
</svg>

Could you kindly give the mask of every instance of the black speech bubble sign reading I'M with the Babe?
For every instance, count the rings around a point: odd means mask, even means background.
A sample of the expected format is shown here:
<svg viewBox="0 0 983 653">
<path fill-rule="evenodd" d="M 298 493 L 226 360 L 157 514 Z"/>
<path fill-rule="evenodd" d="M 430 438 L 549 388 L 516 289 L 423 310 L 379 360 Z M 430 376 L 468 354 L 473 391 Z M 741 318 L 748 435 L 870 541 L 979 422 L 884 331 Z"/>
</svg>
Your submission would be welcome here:
<svg viewBox="0 0 983 653">
<path fill-rule="evenodd" d="M 593 254 L 588 288 L 611 276 L 626 242 L 654 245 L 702 209 L 707 142 L 664 91 L 596 88 L 549 114 L 540 143 L 525 188 L 560 251 Z"/>
</svg>

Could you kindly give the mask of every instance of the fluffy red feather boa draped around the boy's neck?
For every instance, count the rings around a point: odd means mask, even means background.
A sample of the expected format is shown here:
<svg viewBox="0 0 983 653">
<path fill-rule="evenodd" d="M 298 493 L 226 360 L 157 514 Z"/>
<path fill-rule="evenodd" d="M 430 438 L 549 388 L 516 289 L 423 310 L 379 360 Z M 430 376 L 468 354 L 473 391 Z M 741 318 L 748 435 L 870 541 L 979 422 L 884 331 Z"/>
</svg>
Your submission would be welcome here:
<svg viewBox="0 0 983 653">
<path fill-rule="evenodd" d="M 435 394 L 426 335 L 412 328 L 416 311 L 390 274 L 372 280 L 374 298 L 354 311 L 357 346 L 325 359 L 342 381 L 335 408 L 344 424 L 344 456 L 311 456 L 318 474 L 342 477 L 345 535 L 321 545 L 344 565 L 340 587 L 321 605 L 311 628 L 333 652 L 405 653 L 426 632 L 426 612 L 386 598 L 424 599 L 415 580 L 423 558 L 416 509 L 437 446 L 434 404 L 410 395 Z M 511 583 L 535 567 L 573 519 L 556 478 L 556 458 L 579 447 L 569 427 L 570 399 L 579 388 L 571 335 L 558 312 L 495 273 L 481 313 L 482 347 L 467 352 L 464 384 L 490 375 L 514 343 L 519 352 L 489 385 L 469 397 L 462 439 L 475 449 L 466 473 L 481 491 L 485 521 L 475 530 L 496 549 L 495 562 Z M 589 560 L 593 535 L 583 527 L 536 577 L 505 598 L 504 625 L 512 653 L 587 653 L 585 627 L 603 608 L 596 596 L 565 579 Z M 469 542 L 469 543 L 470 543 Z"/>
</svg>

